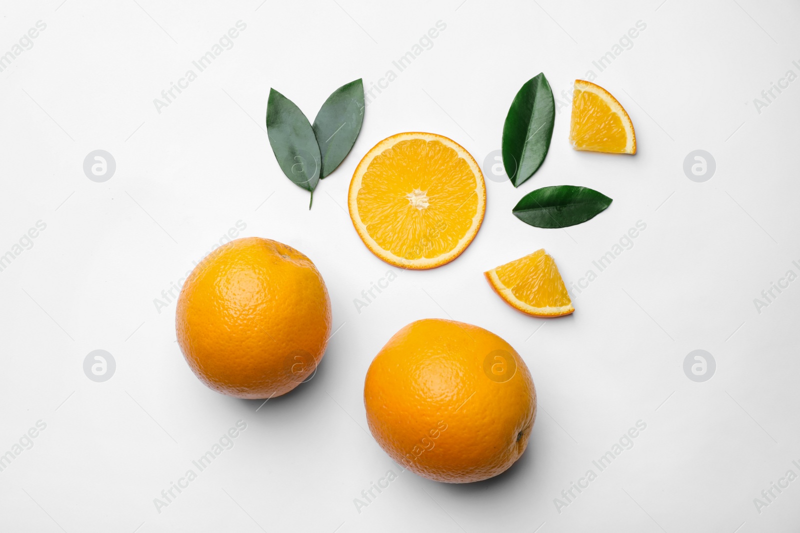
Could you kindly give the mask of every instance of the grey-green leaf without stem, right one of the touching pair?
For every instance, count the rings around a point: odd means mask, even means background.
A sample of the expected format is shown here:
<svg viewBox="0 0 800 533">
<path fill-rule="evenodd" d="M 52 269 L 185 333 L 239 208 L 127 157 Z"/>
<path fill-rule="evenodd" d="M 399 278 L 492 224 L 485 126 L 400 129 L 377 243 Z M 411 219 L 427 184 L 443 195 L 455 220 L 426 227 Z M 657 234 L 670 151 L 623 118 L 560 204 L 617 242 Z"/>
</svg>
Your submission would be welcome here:
<svg viewBox="0 0 800 533">
<path fill-rule="evenodd" d="M 322 155 L 322 179 L 344 161 L 364 121 L 364 84 L 361 78 L 334 90 L 314 119 L 314 135 Z"/>
</svg>

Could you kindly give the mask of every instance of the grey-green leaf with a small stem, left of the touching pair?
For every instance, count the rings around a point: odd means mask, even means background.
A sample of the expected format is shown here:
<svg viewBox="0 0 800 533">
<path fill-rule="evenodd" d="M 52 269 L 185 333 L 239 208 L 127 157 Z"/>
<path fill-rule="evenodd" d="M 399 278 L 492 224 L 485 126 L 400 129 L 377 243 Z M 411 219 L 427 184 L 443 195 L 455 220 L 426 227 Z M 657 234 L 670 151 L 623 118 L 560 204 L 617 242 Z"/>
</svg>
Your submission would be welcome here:
<svg viewBox="0 0 800 533">
<path fill-rule="evenodd" d="M 313 193 L 321 167 L 314 129 L 300 108 L 275 89 L 266 104 L 266 133 L 286 177 Z"/>
</svg>

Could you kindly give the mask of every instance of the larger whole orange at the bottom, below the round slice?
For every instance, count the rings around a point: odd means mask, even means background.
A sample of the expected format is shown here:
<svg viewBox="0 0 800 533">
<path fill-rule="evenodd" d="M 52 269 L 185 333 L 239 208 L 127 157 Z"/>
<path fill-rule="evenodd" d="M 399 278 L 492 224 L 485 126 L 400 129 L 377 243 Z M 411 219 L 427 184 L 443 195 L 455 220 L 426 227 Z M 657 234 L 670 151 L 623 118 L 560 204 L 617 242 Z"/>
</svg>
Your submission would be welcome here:
<svg viewBox="0 0 800 533">
<path fill-rule="evenodd" d="M 516 371 L 502 383 L 484 371 L 496 350 Z M 470 483 L 506 471 L 525 451 L 536 390 L 522 357 L 499 336 L 454 320 L 408 324 L 366 373 L 370 432 L 394 461 L 428 479 Z"/>
</svg>

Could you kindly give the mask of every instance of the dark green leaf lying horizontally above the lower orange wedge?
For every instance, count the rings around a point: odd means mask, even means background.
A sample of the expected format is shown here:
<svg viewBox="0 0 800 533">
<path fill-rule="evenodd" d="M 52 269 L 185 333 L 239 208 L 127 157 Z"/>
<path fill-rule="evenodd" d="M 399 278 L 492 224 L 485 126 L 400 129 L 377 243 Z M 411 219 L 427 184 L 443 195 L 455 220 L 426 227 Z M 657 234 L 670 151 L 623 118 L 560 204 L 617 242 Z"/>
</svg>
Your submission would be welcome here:
<svg viewBox="0 0 800 533">
<path fill-rule="evenodd" d="M 588 187 L 554 185 L 527 193 L 511 213 L 537 228 L 566 228 L 601 213 L 612 200 Z"/>
</svg>

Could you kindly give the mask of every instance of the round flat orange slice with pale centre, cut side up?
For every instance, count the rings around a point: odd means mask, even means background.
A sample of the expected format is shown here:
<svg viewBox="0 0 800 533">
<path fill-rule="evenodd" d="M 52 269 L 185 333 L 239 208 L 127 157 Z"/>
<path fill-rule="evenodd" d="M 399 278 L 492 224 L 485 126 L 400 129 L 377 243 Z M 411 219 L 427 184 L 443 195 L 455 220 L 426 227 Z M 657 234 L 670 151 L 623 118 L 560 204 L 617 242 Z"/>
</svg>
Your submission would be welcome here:
<svg viewBox="0 0 800 533">
<path fill-rule="evenodd" d="M 435 133 L 398 133 L 374 145 L 350 181 L 350 218 L 370 252 L 402 268 L 434 268 L 458 257 L 486 212 L 474 158 Z"/>
</svg>

